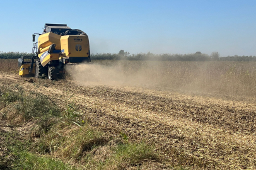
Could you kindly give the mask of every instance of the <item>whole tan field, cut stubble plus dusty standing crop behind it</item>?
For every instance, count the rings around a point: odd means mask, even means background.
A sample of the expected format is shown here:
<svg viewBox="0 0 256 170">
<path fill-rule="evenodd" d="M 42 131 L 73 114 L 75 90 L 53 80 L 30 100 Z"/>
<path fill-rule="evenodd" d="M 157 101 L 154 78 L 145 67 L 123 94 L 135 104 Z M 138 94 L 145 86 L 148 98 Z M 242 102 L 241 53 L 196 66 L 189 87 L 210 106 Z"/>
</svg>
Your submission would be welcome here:
<svg viewBox="0 0 256 170">
<path fill-rule="evenodd" d="M 100 62 L 68 65 L 54 82 L 1 73 L 0 84 L 74 103 L 103 133 L 154 145 L 155 169 L 256 169 L 254 63 Z"/>
</svg>

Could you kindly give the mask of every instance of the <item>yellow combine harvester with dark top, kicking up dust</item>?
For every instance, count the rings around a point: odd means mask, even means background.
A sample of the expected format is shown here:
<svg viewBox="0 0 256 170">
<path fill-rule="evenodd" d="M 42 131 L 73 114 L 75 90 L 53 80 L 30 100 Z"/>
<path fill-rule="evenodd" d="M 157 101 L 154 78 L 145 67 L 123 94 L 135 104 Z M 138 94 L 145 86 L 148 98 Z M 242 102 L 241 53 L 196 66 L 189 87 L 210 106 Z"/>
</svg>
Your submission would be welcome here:
<svg viewBox="0 0 256 170">
<path fill-rule="evenodd" d="M 38 42 L 35 42 L 36 35 L 39 35 Z M 35 55 L 18 59 L 22 77 L 48 77 L 53 80 L 62 76 L 67 63 L 91 61 L 88 35 L 81 30 L 72 30 L 64 24 L 46 23 L 42 34 L 32 36 Z"/>
</svg>

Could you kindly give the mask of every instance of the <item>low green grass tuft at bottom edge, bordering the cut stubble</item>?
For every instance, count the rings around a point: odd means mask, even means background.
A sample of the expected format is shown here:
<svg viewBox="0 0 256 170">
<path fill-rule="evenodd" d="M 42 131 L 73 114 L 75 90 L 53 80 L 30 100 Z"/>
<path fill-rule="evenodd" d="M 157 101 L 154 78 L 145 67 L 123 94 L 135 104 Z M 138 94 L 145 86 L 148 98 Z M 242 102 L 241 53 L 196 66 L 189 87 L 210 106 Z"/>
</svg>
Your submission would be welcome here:
<svg viewBox="0 0 256 170">
<path fill-rule="evenodd" d="M 143 168 L 144 163 L 157 161 L 154 148 L 146 143 L 105 145 L 89 152 L 83 158 L 84 167 L 88 169 L 136 169 Z M 144 169 L 144 168 L 143 168 Z"/>
</svg>

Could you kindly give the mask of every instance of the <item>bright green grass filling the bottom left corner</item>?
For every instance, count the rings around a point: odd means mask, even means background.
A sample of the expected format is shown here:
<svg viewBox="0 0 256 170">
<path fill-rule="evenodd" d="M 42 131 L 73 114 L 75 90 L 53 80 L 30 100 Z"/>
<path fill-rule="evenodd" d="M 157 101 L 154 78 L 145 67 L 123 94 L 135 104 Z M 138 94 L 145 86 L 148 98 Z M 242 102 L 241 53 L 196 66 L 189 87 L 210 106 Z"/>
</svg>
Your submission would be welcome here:
<svg viewBox="0 0 256 170">
<path fill-rule="evenodd" d="M 76 169 L 61 160 L 28 152 L 32 141 L 20 139 L 17 133 L 5 133 L 6 156 L 0 160 L 1 169 Z"/>
</svg>

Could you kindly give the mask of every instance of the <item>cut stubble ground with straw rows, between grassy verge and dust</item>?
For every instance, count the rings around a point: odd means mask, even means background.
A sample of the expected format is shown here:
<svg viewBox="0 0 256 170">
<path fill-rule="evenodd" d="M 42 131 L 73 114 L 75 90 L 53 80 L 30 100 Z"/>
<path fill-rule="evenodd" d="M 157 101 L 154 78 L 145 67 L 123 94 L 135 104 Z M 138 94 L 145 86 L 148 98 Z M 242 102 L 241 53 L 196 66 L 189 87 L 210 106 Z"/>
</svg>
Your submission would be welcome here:
<svg viewBox="0 0 256 170">
<path fill-rule="evenodd" d="M 173 164 L 256 169 L 254 99 L 174 89 L 82 86 L 69 79 L 28 81 L 4 73 L 0 74 L 0 83 L 20 84 L 46 94 L 59 105 L 73 102 L 91 125 L 113 135 L 125 133 L 130 140 L 154 144 Z M 13 129 L 1 122 L 0 130 Z"/>
</svg>

